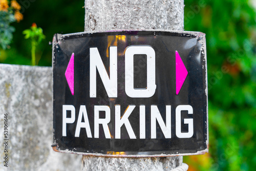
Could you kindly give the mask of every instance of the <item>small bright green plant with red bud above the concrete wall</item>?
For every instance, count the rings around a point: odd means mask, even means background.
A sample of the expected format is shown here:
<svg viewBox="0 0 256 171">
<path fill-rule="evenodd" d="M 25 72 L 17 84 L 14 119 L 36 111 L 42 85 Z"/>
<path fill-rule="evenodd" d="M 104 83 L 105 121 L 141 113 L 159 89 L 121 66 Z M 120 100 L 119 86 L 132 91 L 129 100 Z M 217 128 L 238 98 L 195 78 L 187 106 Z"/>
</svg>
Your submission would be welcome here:
<svg viewBox="0 0 256 171">
<path fill-rule="evenodd" d="M 36 24 L 33 23 L 32 27 L 30 29 L 24 30 L 23 34 L 25 34 L 26 39 L 31 40 L 31 63 L 32 66 L 36 65 L 36 57 L 35 57 L 35 51 L 36 47 L 40 44 L 42 39 L 45 39 L 46 36 L 44 33 L 42 33 L 42 29 L 39 27 L 37 28 Z"/>
</svg>

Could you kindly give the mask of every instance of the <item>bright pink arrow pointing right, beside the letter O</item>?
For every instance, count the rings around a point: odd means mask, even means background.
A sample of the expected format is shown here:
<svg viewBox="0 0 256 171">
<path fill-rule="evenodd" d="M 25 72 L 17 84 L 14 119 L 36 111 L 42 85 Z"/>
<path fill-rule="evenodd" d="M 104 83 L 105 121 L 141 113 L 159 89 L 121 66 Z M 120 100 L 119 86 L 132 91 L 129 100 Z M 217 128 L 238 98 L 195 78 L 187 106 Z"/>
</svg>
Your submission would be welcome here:
<svg viewBox="0 0 256 171">
<path fill-rule="evenodd" d="M 178 51 L 176 51 L 176 94 L 178 95 L 180 89 L 187 77 L 187 70 L 183 61 L 180 58 Z"/>
</svg>

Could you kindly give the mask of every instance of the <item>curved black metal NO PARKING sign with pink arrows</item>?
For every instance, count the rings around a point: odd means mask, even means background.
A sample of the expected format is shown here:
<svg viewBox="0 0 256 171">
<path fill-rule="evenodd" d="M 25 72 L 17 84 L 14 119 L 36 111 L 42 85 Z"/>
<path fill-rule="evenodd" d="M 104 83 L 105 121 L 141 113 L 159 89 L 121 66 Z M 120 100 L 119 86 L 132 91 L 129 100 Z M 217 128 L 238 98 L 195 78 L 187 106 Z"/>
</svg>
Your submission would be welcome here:
<svg viewBox="0 0 256 171">
<path fill-rule="evenodd" d="M 53 148 L 118 157 L 208 152 L 205 34 L 122 30 L 53 38 Z"/>
</svg>

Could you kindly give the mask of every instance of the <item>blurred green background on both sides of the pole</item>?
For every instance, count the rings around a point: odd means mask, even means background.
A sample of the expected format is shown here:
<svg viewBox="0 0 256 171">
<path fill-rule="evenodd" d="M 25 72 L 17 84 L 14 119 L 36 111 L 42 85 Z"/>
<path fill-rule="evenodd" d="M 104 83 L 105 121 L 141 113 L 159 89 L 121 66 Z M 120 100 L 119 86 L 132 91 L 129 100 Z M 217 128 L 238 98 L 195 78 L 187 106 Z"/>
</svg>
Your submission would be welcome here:
<svg viewBox="0 0 256 171">
<path fill-rule="evenodd" d="M 0 48 L 0 62 L 31 65 L 31 43 L 22 32 L 32 23 L 46 39 L 36 63 L 51 66 L 55 33 L 84 30 L 81 0 L 17 1 L 24 19 L 13 23 L 13 40 Z M 189 170 L 256 168 L 256 2 L 185 0 L 184 29 L 206 33 L 209 102 L 209 153 L 185 156 Z M 1 21 L 1 20 L 0 20 Z"/>
</svg>

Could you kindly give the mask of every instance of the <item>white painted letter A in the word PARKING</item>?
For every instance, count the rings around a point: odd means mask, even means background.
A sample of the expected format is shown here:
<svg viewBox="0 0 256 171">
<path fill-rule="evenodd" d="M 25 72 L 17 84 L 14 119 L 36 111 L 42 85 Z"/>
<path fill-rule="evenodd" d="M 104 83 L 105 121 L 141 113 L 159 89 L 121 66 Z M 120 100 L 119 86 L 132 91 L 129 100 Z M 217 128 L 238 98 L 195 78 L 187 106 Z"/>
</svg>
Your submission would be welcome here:
<svg viewBox="0 0 256 171">
<path fill-rule="evenodd" d="M 83 116 L 84 122 L 82 122 L 82 116 Z M 86 106 L 85 105 L 80 105 L 79 115 L 78 115 L 77 124 L 76 124 L 75 137 L 79 137 L 81 127 L 85 127 L 86 128 L 87 137 L 88 138 L 92 138 L 92 133 L 91 133 L 91 129 L 90 129 L 90 123 L 89 123 L 89 119 L 88 119 L 88 115 L 87 115 L 87 111 L 86 111 Z"/>
</svg>

